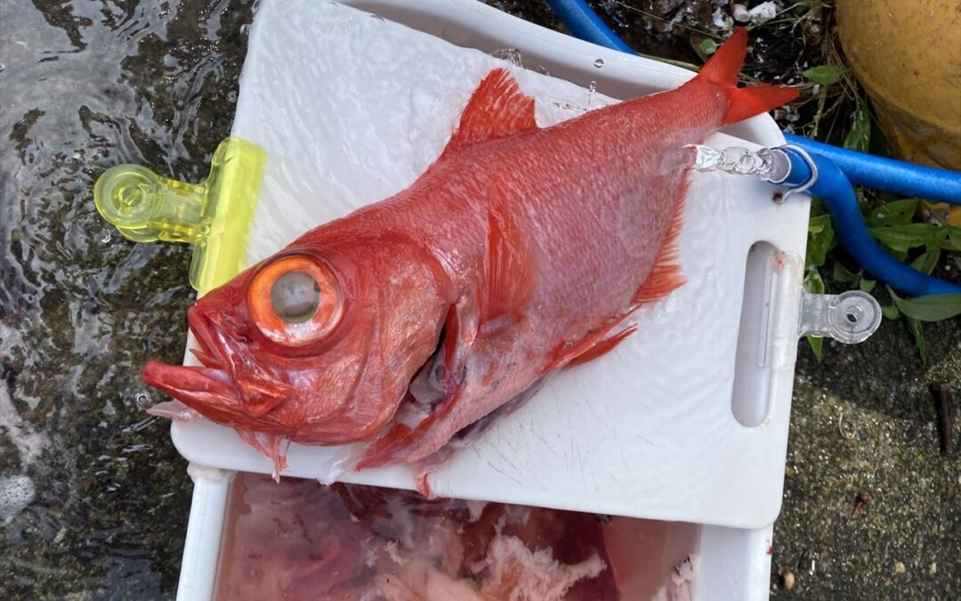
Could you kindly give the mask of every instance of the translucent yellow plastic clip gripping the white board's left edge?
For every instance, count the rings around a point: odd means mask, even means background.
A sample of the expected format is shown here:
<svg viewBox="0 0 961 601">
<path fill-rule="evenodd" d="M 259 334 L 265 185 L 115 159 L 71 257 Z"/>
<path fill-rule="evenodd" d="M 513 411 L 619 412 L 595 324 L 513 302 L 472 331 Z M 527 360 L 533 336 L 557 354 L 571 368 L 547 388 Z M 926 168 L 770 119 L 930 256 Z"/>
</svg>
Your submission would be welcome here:
<svg viewBox="0 0 961 601">
<path fill-rule="evenodd" d="M 193 244 L 190 285 L 204 293 L 242 268 L 267 153 L 242 138 L 220 142 L 201 184 L 162 178 L 136 164 L 97 179 L 97 211 L 126 238 Z"/>
</svg>

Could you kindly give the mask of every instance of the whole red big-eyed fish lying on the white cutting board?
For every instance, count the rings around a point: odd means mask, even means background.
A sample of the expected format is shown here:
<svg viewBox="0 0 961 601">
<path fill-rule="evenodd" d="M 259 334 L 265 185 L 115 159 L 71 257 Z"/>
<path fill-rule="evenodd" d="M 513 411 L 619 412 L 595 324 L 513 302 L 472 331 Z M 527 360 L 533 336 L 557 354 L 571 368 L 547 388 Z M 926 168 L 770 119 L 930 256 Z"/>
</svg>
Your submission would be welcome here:
<svg viewBox="0 0 961 601">
<path fill-rule="evenodd" d="M 311 230 L 187 313 L 203 367 L 148 384 L 272 443 L 368 441 L 426 474 L 559 369 L 612 350 L 683 284 L 685 145 L 793 100 L 737 88 L 736 31 L 680 88 L 553 127 L 504 69 L 410 188 Z M 263 445 L 261 444 L 261 448 Z"/>
</svg>

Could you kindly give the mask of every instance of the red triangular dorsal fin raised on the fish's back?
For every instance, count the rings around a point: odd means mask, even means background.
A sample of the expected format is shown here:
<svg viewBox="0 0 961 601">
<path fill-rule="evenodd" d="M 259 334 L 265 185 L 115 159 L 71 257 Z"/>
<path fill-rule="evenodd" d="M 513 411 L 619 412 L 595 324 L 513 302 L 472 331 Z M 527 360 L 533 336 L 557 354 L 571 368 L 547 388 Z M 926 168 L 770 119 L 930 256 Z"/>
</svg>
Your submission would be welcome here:
<svg viewBox="0 0 961 601">
<path fill-rule="evenodd" d="M 444 151 L 532 129 L 534 99 L 521 93 L 507 69 L 496 68 L 474 90 Z"/>
</svg>

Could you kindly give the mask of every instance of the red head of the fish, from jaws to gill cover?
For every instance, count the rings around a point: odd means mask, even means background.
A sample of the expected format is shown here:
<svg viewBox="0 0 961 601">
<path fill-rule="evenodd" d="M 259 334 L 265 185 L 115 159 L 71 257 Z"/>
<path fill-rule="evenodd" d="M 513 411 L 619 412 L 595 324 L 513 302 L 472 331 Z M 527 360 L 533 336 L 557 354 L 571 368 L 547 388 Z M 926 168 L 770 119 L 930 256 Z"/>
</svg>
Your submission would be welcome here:
<svg viewBox="0 0 961 601">
<path fill-rule="evenodd" d="M 437 346 L 443 272 L 405 241 L 291 245 L 187 311 L 200 365 L 144 380 L 210 419 L 312 444 L 370 438 Z"/>
</svg>

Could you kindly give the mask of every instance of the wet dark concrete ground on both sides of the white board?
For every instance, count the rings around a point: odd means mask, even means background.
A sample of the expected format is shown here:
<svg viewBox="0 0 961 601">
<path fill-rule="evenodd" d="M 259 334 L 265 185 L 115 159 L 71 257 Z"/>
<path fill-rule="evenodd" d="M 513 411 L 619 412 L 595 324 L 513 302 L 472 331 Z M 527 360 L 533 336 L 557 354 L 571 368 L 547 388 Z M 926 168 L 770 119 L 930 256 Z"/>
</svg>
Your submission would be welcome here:
<svg viewBox="0 0 961 601">
<path fill-rule="evenodd" d="M 0 3 L 2 599 L 175 592 L 190 482 L 138 372 L 182 354 L 189 252 L 120 238 L 90 191 L 116 163 L 206 176 L 250 19 L 242 0 Z M 775 598 L 961 596 L 961 462 L 926 391 L 961 386 L 961 323 L 925 332 L 926 367 L 901 322 L 824 363 L 802 345 Z"/>
</svg>

